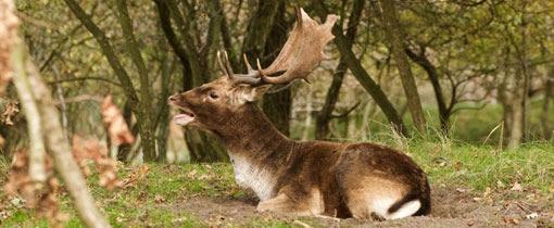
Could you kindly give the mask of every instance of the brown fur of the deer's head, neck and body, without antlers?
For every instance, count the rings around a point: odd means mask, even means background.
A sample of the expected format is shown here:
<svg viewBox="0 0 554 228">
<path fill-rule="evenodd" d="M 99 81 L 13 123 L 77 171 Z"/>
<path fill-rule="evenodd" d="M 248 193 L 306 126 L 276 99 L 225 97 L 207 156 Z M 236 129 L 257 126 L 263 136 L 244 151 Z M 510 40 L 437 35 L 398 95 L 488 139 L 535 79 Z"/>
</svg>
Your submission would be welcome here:
<svg viewBox="0 0 554 228">
<path fill-rule="evenodd" d="M 245 187 L 262 185 L 260 211 L 372 218 L 372 202 L 390 198 L 388 213 L 413 200 L 420 202 L 413 215 L 430 212 L 427 177 L 412 159 L 374 143 L 291 140 L 255 105 L 265 90 L 222 77 L 169 98 L 193 113 L 189 126 L 222 139 Z"/>
</svg>

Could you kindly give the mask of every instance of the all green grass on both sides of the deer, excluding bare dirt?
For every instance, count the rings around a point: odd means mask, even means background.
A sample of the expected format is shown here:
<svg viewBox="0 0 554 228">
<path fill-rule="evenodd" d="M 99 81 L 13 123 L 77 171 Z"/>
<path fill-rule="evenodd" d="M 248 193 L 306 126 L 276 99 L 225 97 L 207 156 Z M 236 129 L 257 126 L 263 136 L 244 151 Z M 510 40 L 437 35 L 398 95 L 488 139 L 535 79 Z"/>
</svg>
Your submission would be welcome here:
<svg viewBox="0 0 554 228">
<path fill-rule="evenodd" d="M 519 182 L 524 189 L 547 193 L 554 185 L 552 143 L 528 143 L 511 151 L 448 139 L 389 139 L 383 143 L 407 151 L 428 173 L 432 186 L 484 191 L 488 187 L 493 190 L 509 189 L 514 182 Z M 186 205 L 171 202 L 186 203 L 189 198 L 243 199 L 249 195 L 236 186 L 229 164 L 148 166 L 148 175 L 125 190 L 108 191 L 97 186 L 98 177 L 89 178 L 99 206 L 114 227 L 206 227 L 209 224 L 194 217 Z M 119 175 L 124 178 L 129 172 L 130 168 L 121 168 Z M 0 198 L 3 198 L 1 193 Z M 160 199 L 163 202 L 158 202 Z M 37 218 L 32 211 L 13 206 L 9 208 L 11 216 L 0 221 L 1 227 L 48 227 L 48 223 Z M 66 227 L 83 227 L 65 194 L 61 199 L 61 208 L 70 214 Z M 292 220 L 265 217 L 241 221 L 244 223 L 253 227 L 298 226 Z M 316 223 L 311 225 L 318 226 Z"/>
</svg>

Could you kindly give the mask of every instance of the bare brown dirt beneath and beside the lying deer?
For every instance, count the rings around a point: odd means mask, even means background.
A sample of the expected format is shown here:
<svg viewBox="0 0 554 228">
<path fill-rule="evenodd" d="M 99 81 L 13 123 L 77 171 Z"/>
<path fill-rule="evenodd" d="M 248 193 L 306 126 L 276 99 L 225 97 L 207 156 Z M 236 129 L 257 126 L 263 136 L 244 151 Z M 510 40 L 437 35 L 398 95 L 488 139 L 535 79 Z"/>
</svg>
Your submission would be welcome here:
<svg viewBox="0 0 554 228">
<path fill-rule="evenodd" d="M 290 217 L 255 211 L 253 198 L 189 198 L 174 204 L 210 226 L 252 226 L 251 220 L 281 220 L 299 227 L 554 227 L 552 195 L 506 190 L 476 194 L 465 189 L 438 187 L 429 216 L 373 221 L 317 217 Z M 502 200 L 501 200 L 502 199 Z M 255 226 L 255 225 L 254 225 Z"/>
</svg>

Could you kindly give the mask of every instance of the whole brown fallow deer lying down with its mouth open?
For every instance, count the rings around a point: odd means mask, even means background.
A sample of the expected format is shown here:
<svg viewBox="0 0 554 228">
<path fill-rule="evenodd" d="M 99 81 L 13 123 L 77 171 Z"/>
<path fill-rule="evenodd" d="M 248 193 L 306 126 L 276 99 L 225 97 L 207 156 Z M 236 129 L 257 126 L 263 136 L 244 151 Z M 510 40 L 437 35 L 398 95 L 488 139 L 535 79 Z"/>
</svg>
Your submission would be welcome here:
<svg viewBox="0 0 554 228">
<path fill-rule="evenodd" d="M 235 179 L 260 198 L 260 212 L 395 219 L 430 212 L 426 174 L 414 161 L 374 143 L 295 141 L 280 134 L 255 102 L 272 85 L 304 78 L 325 58 L 338 16 L 324 24 L 297 9 L 297 23 L 277 59 L 235 74 L 226 53 L 224 76 L 169 97 L 178 125 L 217 136 L 228 150 Z M 222 56 L 223 55 L 223 56 Z"/>
</svg>

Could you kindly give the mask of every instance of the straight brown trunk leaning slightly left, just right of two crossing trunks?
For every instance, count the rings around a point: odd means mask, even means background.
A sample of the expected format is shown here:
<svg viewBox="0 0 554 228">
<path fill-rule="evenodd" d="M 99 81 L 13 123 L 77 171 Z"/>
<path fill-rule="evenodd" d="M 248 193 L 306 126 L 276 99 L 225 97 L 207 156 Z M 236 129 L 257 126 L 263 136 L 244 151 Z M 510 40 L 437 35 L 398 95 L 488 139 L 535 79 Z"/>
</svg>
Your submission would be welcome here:
<svg viewBox="0 0 554 228">
<path fill-rule="evenodd" d="M 392 50 L 392 58 L 396 62 L 399 69 L 400 79 L 402 87 L 406 94 L 407 106 L 412 114 L 415 127 L 420 131 L 425 132 L 425 116 L 421 109 L 421 102 L 419 100 L 419 93 L 417 92 L 417 85 L 412 74 L 410 62 L 407 61 L 406 53 L 404 52 L 404 31 L 402 30 L 401 24 L 396 16 L 396 10 L 394 9 L 394 2 L 391 0 L 379 0 L 382 10 L 382 21 L 385 26 L 385 33 L 389 40 L 390 48 Z"/>
</svg>

